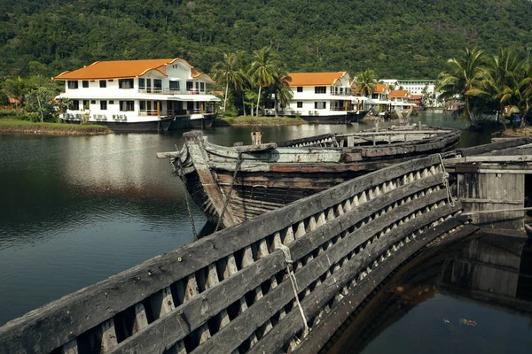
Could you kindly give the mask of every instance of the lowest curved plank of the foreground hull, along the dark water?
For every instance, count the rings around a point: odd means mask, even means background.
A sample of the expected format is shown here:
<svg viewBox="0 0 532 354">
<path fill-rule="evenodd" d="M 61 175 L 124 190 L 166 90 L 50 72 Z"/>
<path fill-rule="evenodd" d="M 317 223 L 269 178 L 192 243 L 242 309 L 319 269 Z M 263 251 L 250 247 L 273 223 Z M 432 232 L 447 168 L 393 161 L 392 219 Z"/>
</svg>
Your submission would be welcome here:
<svg viewBox="0 0 532 354">
<path fill-rule="evenodd" d="M 444 235 L 444 229 L 448 228 L 447 223 L 449 222 L 449 220 L 446 220 L 446 224 L 442 224 L 437 231 L 434 230 L 434 234 L 439 234 L 438 236 Z M 478 227 L 465 225 L 452 234 L 452 237 L 454 240 L 459 240 L 468 235 L 472 235 L 477 231 Z M 340 302 L 332 308 L 332 311 L 327 314 L 325 319 L 322 319 L 321 323 L 312 328 L 312 335 L 309 335 L 301 341 L 301 344 L 296 350 L 294 350 L 294 353 L 317 353 L 321 350 L 325 343 L 332 337 L 334 332 L 348 318 L 349 314 L 356 310 L 359 304 L 361 304 L 364 299 L 379 286 L 379 283 L 384 281 L 392 270 L 397 266 L 400 266 L 406 259 L 410 258 L 411 255 L 420 249 L 420 242 L 426 245 L 434 238 L 433 236 L 434 235 L 429 234 L 419 236 L 419 239 L 416 240 L 416 242 L 407 244 L 400 252 L 394 253 L 387 258 L 386 265 L 378 266 L 368 277 L 357 283 L 356 288 L 344 296 Z M 421 246 L 423 247 L 423 245 Z"/>
</svg>

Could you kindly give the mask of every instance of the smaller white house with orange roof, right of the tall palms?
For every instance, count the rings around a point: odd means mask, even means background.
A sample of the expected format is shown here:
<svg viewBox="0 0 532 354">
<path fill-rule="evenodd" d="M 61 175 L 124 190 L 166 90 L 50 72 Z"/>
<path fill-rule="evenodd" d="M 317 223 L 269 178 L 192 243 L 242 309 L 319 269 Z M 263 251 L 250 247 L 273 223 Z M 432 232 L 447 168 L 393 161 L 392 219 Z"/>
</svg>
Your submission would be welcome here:
<svg viewBox="0 0 532 354">
<path fill-rule="evenodd" d="M 290 73 L 290 103 L 281 114 L 312 122 L 349 123 L 362 114 L 363 99 L 352 96 L 347 72 Z M 266 112 L 267 114 L 273 114 Z"/>
</svg>

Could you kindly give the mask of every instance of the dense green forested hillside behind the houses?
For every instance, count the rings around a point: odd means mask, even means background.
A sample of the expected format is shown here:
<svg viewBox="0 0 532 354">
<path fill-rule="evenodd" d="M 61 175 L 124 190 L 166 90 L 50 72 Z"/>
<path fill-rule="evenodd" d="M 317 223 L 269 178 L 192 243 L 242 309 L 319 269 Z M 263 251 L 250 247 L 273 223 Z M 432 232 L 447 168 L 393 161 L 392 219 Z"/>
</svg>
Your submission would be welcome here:
<svg viewBox="0 0 532 354">
<path fill-rule="evenodd" d="M 466 46 L 532 47 L 528 0 L 0 0 L 0 80 L 96 60 L 186 58 L 271 46 L 290 71 L 373 68 L 435 78 Z"/>
</svg>

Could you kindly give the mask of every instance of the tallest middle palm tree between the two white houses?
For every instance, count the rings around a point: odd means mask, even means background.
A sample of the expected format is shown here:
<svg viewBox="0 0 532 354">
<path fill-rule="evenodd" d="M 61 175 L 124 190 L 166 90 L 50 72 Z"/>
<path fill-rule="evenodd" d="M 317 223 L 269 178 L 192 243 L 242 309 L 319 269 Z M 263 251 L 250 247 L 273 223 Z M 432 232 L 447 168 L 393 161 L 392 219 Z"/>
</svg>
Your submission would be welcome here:
<svg viewBox="0 0 532 354">
<path fill-rule="evenodd" d="M 256 107 L 257 117 L 259 116 L 262 86 L 269 86 L 274 80 L 275 73 L 278 73 L 278 71 L 277 56 L 269 47 L 264 47 L 261 50 L 254 50 L 253 62 L 249 67 L 248 73 L 251 77 L 251 81 L 259 87 Z"/>
</svg>

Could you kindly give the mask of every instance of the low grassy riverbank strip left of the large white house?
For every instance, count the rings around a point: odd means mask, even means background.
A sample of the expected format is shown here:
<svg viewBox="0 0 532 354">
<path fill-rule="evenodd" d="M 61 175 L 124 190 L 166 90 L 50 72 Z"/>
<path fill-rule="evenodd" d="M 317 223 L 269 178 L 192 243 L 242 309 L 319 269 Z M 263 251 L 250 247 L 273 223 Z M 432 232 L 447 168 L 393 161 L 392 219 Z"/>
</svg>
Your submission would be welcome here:
<svg viewBox="0 0 532 354">
<path fill-rule="evenodd" d="M 111 129 L 94 124 L 35 123 L 19 119 L 0 119 L 0 134 L 103 135 Z"/>
</svg>

